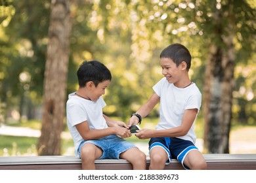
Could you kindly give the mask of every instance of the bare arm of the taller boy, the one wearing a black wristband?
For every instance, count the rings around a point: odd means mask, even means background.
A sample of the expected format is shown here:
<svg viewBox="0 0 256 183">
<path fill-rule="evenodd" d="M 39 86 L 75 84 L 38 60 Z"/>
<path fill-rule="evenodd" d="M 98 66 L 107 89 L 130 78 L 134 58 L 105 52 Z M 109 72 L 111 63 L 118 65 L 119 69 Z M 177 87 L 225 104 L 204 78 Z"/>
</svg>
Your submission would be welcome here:
<svg viewBox="0 0 256 183">
<path fill-rule="evenodd" d="M 152 109 L 160 102 L 160 97 L 156 94 L 153 93 L 151 97 L 148 99 L 144 105 L 142 105 L 139 110 L 137 110 L 137 114 L 140 114 L 141 118 L 144 118 L 148 116 L 148 114 L 152 111 Z M 128 126 L 130 127 L 131 125 L 137 125 L 139 123 L 139 118 L 137 116 L 131 116 L 129 120 Z"/>
</svg>

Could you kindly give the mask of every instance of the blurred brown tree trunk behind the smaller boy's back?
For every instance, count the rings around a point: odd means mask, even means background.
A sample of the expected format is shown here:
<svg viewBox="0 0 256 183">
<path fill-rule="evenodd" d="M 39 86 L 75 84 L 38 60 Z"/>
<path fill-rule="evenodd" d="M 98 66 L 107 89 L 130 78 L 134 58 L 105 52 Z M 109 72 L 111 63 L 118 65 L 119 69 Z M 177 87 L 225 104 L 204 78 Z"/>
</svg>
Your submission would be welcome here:
<svg viewBox="0 0 256 183">
<path fill-rule="evenodd" d="M 49 26 L 49 44 L 45 65 L 44 99 L 39 155 L 60 155 L 60 134 L 66 106 L 68 50 L 72 22 L 70 0 L 53 0 Z"/>
</svg>

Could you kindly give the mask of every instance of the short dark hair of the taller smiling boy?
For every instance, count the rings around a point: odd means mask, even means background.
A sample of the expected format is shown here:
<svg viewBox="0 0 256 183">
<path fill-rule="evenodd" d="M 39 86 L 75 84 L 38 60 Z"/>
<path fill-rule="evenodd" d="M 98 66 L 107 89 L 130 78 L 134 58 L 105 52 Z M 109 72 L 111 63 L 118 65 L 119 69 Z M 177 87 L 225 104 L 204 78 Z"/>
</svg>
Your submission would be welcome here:
<svg viewBox="0 0 256 183">
<path fill-rule="evenodd" d="M 182 61 L 186 62 L 186 70 L 190 69 L 191 65 L 191 55 L 188 49 L 182 44 L 175 43 L 167 46 L 163 49 L 160 54 L 160 58 L 170 58 L 176 63 L 177 67 L 181 64 Z"/>
</svg>

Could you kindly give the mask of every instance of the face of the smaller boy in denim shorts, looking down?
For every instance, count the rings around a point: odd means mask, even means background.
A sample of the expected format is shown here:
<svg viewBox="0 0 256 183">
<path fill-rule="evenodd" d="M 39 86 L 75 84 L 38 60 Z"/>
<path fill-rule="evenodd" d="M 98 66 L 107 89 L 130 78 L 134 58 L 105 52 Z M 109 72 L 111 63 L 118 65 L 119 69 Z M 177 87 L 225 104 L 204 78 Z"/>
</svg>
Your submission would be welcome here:
<svg viewBox="0 0 256 183">
<path fill-rule="evenodd" d="M 95 84 L 93 84 L 91 88 L 91 95 L 90 99 L 92 101 L 97 101 L 98 98 L 105 94 L 106 88 L 110 84 L 110 80 L 105 80 L 104 82 L 100 82 L 97 87 L 95 87 Z"/>
</svg>

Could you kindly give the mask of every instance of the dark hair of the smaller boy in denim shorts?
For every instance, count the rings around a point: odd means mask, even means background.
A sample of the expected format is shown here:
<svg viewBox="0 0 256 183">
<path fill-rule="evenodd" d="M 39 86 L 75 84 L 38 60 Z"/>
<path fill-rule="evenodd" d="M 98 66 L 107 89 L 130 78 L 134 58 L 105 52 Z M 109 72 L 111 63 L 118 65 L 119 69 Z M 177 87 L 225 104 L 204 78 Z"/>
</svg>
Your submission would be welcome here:
<svg viewBox="0 0 256 183">
<path fill-rule="evenodd" d="M 85 84 L 92 81 L 97 87 L 100 82 L 111 80 L 110 70 L 99 61 L 83 61 L 77 70 L 77 78 L 79 87 L 85 87 Z"/>
</svg>

